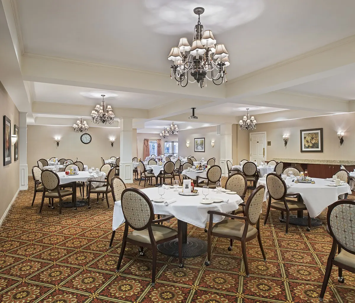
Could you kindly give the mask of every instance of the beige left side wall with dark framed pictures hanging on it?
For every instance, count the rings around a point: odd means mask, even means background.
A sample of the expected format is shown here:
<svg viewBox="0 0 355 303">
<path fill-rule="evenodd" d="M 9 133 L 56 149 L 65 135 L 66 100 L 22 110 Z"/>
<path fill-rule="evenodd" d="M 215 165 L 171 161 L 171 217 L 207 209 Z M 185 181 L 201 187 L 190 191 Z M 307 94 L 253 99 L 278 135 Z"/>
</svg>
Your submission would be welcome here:
<svg viewBox="0 0 355 303">
<path fill-rule="evenodd" d="M 0 82 L 0 113 L 1 118 L 3 119 L 6 115 L 11 120 L 11 133 L 13 134 L 14 124 L 19 125 L 19 113 L 12 102 L 10 96 L 7 94 L 4 86 Z M 3 134 L 1 132 L 1 162 L 4 160 L 4 151 L 3 151 Z M 13 146 L 11 146 L 11 163 L 9 165 L 3 166 L 4 163 L 0 164 L 0 218 L 4 215 L 7 207 L 11 203 L 13 197 L 16 195 L 20 187 L 20 161 L 15 162 L 13 155 Z"/>
</svg>

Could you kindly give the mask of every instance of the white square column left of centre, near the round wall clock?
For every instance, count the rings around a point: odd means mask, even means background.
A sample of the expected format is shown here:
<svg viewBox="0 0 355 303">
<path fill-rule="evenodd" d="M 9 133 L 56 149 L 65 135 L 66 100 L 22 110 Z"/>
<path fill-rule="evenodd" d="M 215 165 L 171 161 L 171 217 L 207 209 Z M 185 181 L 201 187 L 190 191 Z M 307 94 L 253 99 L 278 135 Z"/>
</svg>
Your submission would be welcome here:
<svg viewBox="0 0 355 303">
<path fill-rule="evenodd" d="M 132 121 L 132 118 L 120 120 L 120 178 L 124 183 L 133 183 Z"/>
</svg>

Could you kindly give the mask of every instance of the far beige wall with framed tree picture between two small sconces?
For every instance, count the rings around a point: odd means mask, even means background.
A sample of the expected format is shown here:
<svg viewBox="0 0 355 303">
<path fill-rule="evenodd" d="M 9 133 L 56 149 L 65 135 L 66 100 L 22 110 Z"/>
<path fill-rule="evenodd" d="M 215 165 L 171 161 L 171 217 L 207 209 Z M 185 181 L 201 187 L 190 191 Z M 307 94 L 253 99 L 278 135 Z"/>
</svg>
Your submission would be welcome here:
<svg viewBox="0 0 355 303">
<path fill-rule="evenodd" d="M 194 138 L 205 138 L 205 152 L 194 152 Z M 214 141 L 214 147 L 211 146 L 211 141 Z M 186 142 L 189 142 L 189 148 L 186 147 Z M 220 159 L 220 138 L 217 136 L 217 128 L 215 126 L 192 128 L 179 130 L 179 156 L 193 156 L 197 160 L 203 157 L 205 161 L 215 157 L 216 164 Z"/>
</svg>

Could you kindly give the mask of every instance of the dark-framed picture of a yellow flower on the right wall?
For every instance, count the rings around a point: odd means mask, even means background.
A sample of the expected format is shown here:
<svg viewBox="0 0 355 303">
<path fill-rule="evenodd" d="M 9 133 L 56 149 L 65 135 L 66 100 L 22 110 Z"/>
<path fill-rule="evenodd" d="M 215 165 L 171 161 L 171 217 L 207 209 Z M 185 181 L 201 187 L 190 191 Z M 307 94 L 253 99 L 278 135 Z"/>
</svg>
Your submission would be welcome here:
<svg viewBox="0 0 355 303">
<path fill-rule="evenodd" d="M 323 128 L 300 130 L 301 152 L 323 152 Z"/>
</svg>

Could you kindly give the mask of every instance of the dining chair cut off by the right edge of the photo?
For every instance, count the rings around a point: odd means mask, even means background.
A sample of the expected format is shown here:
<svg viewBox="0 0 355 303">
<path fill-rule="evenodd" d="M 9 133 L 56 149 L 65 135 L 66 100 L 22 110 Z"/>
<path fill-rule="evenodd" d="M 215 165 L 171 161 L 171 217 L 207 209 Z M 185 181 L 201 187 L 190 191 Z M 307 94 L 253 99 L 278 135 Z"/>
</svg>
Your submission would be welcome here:
<svg viewBox="0 0 355 303">
<path fill-rule="evenodd" d="M 338 281 L 344 283 L 343 269 L 355 273 L 355 201 L 342 199 L 328 206 L 327 231 L 333 245 L 327 260 L 326 273 L 319 300 L 323 301 L 333 265 L 338 266 Z M 353 223 L 353 224 L 351 224 Z M 338 247 L 338 255 L 335 256 Z M 350 302 L 350 301 L 349 301 Z"/>
</svg>

